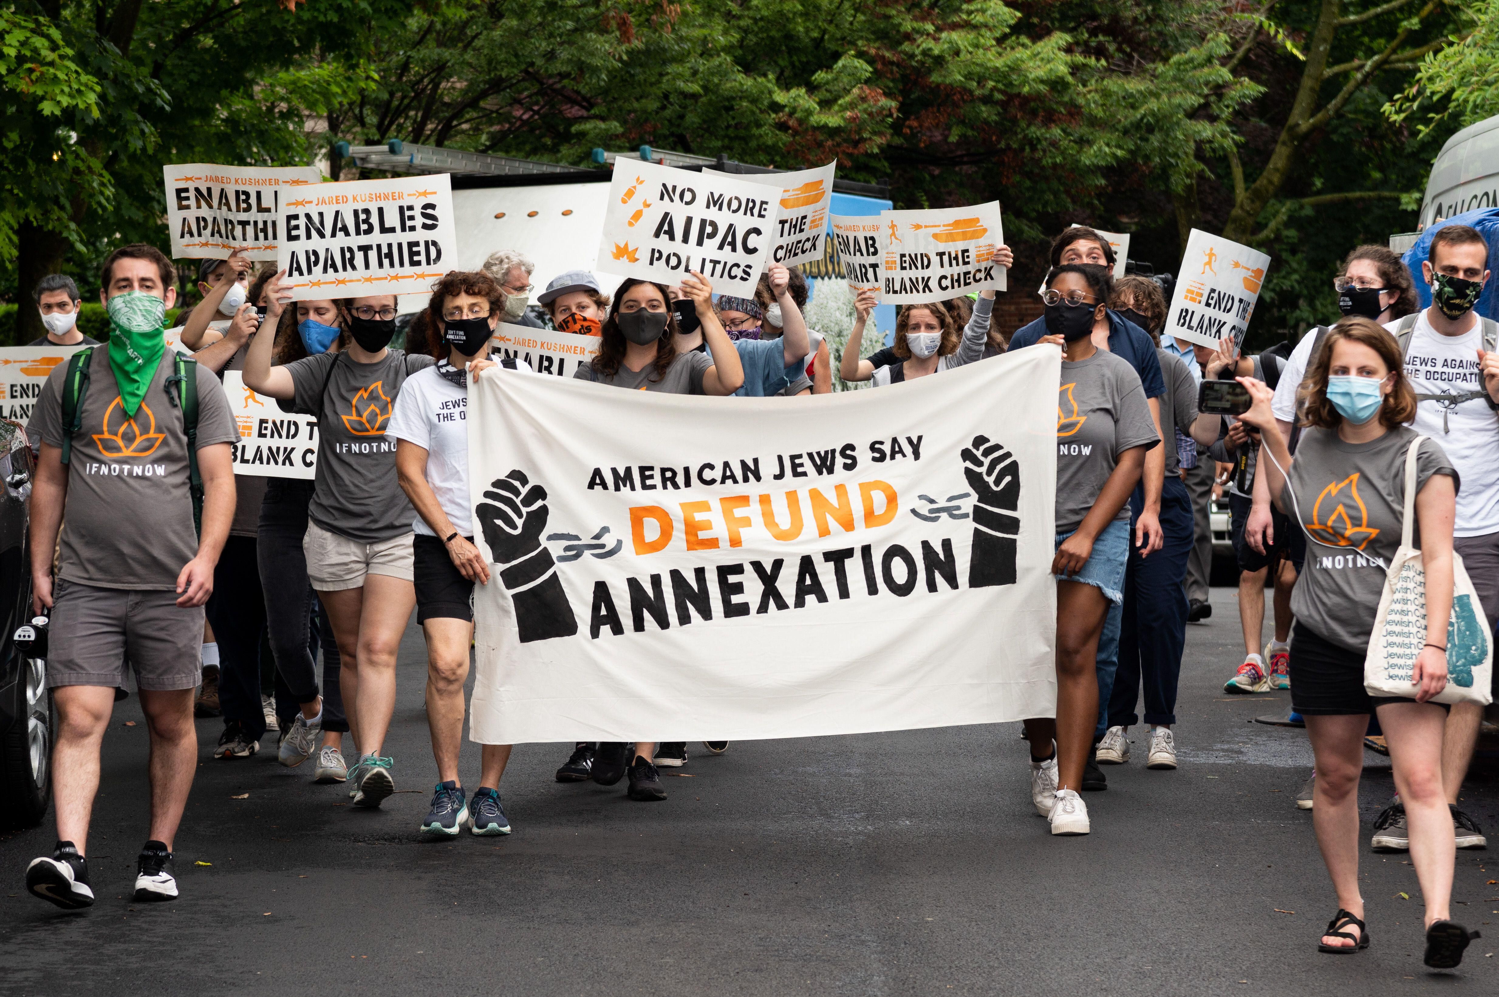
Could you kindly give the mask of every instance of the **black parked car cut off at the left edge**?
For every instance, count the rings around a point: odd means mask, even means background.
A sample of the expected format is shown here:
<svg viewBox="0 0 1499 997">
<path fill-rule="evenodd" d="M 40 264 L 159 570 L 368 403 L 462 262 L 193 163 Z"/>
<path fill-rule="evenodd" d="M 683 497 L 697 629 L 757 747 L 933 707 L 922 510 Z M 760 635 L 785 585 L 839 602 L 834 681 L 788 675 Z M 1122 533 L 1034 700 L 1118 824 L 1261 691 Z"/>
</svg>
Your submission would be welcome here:
<svg viewBox="0 0 1499 997">
<path fill-rule="evenodd" d="M 52 796 L 46 661 L 16 642 L 31 621 L 31 471 L 25 429 L 0 420 L 0 829 L 34 828 Z"/>
</svg>

